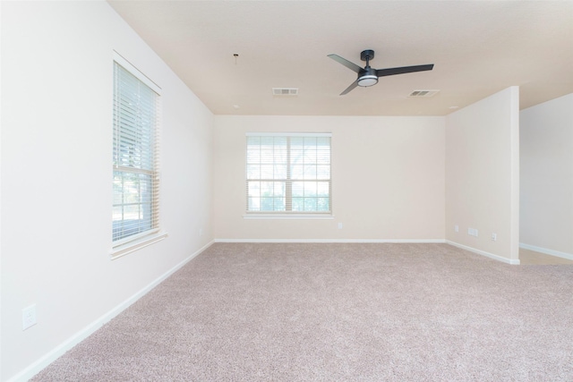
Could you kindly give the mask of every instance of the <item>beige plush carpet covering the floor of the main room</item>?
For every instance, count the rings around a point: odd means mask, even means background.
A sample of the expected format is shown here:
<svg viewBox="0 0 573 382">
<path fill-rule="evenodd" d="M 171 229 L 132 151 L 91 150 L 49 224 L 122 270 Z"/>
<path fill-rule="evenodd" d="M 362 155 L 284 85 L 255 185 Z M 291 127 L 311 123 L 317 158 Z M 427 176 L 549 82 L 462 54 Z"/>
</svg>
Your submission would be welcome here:
<svg viewBox="0 0 573 382">
<path fill-rule="evenodd" d="M 573 381 L 573 266 L 218 243 L 34 381 Z"/>
</svg>

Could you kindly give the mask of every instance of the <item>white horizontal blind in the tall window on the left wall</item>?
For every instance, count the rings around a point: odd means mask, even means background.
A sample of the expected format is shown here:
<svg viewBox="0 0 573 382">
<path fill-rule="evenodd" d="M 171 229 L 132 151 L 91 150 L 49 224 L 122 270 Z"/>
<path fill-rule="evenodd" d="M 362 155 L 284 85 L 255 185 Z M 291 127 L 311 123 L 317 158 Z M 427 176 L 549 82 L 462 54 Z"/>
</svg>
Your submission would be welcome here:
<svg viewBox="0 0 573 382">
<path fill-rule="evenodd" d="M 159 228 L 159 95 L 114 63 L 113 242 Z"/>
</svg>

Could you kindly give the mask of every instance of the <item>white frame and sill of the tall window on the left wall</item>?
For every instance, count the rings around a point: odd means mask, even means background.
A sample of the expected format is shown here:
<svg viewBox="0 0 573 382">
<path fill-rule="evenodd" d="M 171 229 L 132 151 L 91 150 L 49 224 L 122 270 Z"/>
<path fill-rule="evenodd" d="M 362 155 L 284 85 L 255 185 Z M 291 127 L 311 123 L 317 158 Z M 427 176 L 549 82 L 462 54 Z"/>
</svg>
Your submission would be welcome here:
<svg viewBox="0 0 573 382">
<path fill-rule="evenodd" d="M 113 164 L 113 169 L 114 169 L 114 173 L 115 172 L 122 172 L 124 174 L 141 174 L 141 175 L 147 175 L 150 178 L 150 182 L 151 182 L 151 194 L 152 194 L 152 200 L 150 201 L 150 206 L 152 208 L 151 210 L 151 228 L 148 230 L 145 230 L 143 232 L 140 233 L 134 233 L 134 234 L 129 234 L 123 238 L 117 239 L 115 240 L 114 237 L 114 228 L 112 228 L 112 250 L 111 250 L 111 256 L 112 259 L 116 259 L 119 258 L 121 256 L 124 256 L 128 253 L 131 253 L 135 250 L 139 250 L 141 248 L 147 247 L 150 244 L 153 244 L 155 242 L 159 242 L 163 239 L 165 239 L 167 237 L 167 233 L 162 232 L 160 229 L 160 225 L 159 225 L 159 138 L 160 138 L 160 111 L 161 111 L 161 88 L 153 81 L 150 80 L 150 78 L 148 78 L 145 74 L 143 74 L 141 71 L 139 71 L 133 64 L 131 64 L 130 62 L 128 62 L 122 55 L 119 55 L 117 52 L 114 51 L 114 55 L 113 55 L 113 61 L 114 61 L 114 68 L 115 65 L 119 65 L 121 68 L 123 68 L 126 72 L 130 73 L 133 75 L 133 77 L 135 77 L 135 79 L 137 79 L 138 81 L 141 82 L 142 85 L 145 85 L 147 88 L 151 89 L 153 92 L 155 92 L 157 94 L 157 98 L 156 98 L 156 106 L 155 106 L 155 122 L 154 122 L 154 132 L 152 132 L 153 134 L 153 138 L 154 138 L 154 144 L 153 144 L 153 154 L 148 157 L 151 161 L 152 161 L 152 165 L 151 168 L 146 168 L 146 169 L 142 169 L 142 168 L 138 168 L 138 167 L 130 167 L 130 166 L 119 166 L 119 153 L 114 152 L 113 156 L 114 156 L 114 164 Z M 114 69 L 114 87 L 116 86 L 115 83 L 115 69 Z M 113 89 L 114 95 L 115 95 L 115 91 L 116 89 Z M 114 96 L 115 97 L 115 96 Z M 115 99 L 114 99 L 114 110 L 117 106 Z M 113 123 L 113 132 L 114 132 L 114 141 L 119 141 L 119 120 L 120 120 L 120 116 L 119 113 L 115 113 L 114 112 L 114 123 Z M 115 147 L 115 143 L 114 143 L 114 148 Z M 122 193 L 123 194 L 123 193 Z M 115 203 L 115 202 L 114 202 Z M 140 202 L 141 204 L 141 202 Z M 115 208 L 115 206 L 119 207 L 119 206 L 124 206 L 124 202 L 120 203 L 120 204 L 113 204 L 113 208 Z M 113 216 L 113 214 L 112 214 Z M 112 221 L 113 218 L 112 218 Z M 112 224 L 113 225 L 113 224 Z"/>
</svg>

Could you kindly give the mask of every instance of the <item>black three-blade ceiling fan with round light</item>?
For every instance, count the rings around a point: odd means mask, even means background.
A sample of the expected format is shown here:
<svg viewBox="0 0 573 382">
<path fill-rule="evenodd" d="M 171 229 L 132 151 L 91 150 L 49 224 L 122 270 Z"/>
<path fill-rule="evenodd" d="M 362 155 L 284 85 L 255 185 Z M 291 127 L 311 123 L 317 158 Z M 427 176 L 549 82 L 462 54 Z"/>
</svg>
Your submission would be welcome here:
<svg viewBox="0 0 573 382">
<path fill-rule="evenodd" d="M 431 71 L 433 69 L 433 64 L 427 65 L 415 65 L 415 66 L 401 66 L 399 68 L 388 68 L 388 69 L 373 69 L 370 67 L 370 60 L 374 58 L 374 51 L 373 50 L 363 50 L 360 54 L 360 59 L 366 62 L 366 66 L 361 68 L 357 64 L 351 63 L 350 61 L 346 60 L 346 58 L 342 58 L 339 55 L 329 55 L 334 61 L 337 61 L 340 64 L 346 66 L 346 68 L 355 71 L 358 73 L 358 78 L 356 81 L 352 82 L 348 88 L 346 88 L 342 93 L 341 96 L 344 96 L 346 93 L 350 92 L 350 90 L 355 89 L 356 86 L 372 86 L 378 83 L 379 77 L 384 76 L 391 76 L 394 74 L 405 74 L 411 72 L 423 72 L 423 71 Z"/>
</svg>

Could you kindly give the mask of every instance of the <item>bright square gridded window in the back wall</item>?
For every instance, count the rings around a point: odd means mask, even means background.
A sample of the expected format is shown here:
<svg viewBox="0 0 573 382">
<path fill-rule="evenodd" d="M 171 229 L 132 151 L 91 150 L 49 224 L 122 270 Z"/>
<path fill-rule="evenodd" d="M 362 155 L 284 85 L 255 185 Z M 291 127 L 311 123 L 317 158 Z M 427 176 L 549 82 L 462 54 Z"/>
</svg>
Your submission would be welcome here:
<svg viewBox="0 0 573 382">
<path fill-rule="evenodd" d="M 330 134 L 246 137 L 247 212 L 330 213 Z"/>
</svg>

